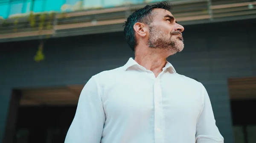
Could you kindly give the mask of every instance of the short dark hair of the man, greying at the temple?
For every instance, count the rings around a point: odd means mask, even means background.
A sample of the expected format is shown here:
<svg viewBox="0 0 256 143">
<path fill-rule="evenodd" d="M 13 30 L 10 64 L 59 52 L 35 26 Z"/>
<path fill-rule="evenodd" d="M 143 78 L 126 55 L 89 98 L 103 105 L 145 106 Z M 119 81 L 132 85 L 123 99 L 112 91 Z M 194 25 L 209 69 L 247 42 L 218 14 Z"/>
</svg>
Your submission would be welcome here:
<svg viewBox="0 0 256 143">
<path fill-rule="evenodd" d="M 137 40 L 135 38 L 135 33 L 134 33 L 134 24 L 136 22 L 142 22 L 147 25 L 150 25 L 151 22 L 153 21 L 153 14 L 152 10 L 154 8 L 163 8 L 168 11 L 172 9 L 172 4 L 166 1 L 162 1 L 160 3 L 156 4 L 151 4 L 151 5 L 146 5 L 143 8 L 140 8 L 136 10 L 134 13 L 132 13 L 128 18 L 127 21 L 125 21 L 125 39 L 130 46 L 131 50 L 135 50 L 135 47 L 137 46 Z"/>
</svg>

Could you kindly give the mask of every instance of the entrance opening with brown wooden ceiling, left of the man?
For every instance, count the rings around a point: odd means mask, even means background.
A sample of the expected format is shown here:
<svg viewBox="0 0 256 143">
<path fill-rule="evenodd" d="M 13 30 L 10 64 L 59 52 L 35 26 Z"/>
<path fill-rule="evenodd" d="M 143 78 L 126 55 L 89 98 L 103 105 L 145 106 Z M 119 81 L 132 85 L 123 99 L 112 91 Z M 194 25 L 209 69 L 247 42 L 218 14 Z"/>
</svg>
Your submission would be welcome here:
<svg viewBox="0 0 256 143">
<path fill-rule="evenodd" d="M 83 86 L 20 90 L 14 143 L 64 143 Z"/>
</svg>

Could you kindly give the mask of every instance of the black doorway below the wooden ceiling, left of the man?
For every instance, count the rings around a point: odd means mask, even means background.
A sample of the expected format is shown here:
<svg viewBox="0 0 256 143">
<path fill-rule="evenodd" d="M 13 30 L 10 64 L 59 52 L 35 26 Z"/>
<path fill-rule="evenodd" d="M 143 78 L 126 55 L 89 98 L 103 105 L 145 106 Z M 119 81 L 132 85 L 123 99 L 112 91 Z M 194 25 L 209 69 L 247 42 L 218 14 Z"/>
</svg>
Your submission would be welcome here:
<svg viewBox="0 0 256 143">
<path fill-rule="evenodd" d="M 19 107 L 15 143 L 64 143 L 76 106 Z"/>
</svg>

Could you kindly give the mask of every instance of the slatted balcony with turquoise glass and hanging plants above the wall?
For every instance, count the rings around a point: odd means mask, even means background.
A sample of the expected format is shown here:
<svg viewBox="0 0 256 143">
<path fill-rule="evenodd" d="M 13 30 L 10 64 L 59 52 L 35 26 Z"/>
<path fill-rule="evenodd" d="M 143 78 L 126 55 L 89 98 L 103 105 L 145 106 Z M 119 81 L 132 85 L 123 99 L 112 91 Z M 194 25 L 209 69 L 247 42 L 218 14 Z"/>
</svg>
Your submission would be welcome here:
<svg viewBox="0 0 256 143">
<path fill-rule="evenodd" d="M 0 42 L 122 31 L 129 14 L 160 0 L 1 0 Z M 169 0 L 182 25 L 256 18 L 252 0 Z"/>
</svg>

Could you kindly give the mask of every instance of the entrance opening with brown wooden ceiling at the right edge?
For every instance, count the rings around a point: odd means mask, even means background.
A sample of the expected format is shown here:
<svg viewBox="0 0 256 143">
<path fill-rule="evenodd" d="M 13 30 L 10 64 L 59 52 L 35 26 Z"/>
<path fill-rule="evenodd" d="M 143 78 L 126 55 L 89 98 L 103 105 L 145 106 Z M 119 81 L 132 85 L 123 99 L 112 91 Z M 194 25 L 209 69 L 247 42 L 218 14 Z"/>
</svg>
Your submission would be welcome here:
<svg viewBox="0 0 256 143">
<path fill-rule="evenodd" d="M 256 77 L 228 79 L 235 143 L 256 143 Z"/>
</svg>

